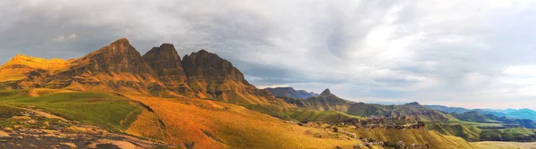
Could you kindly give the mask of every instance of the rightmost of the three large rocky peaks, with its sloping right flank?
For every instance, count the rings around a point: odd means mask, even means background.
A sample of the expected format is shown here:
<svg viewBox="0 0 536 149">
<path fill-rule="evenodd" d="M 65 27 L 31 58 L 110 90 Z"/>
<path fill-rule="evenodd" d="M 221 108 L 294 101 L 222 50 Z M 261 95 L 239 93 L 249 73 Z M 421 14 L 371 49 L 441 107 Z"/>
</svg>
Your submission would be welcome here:
<svg viewBox="0 0 536 149">
<path fill-rule="evenodd" d="M 242 72 L 217 54 L 200 50 L 185 55 L 181 64 L 188 77 L 188 86 L 199 97 L 241 105 L 286 104 L 268 91 L 249 84 Z"/>
</svg>

